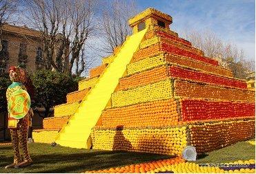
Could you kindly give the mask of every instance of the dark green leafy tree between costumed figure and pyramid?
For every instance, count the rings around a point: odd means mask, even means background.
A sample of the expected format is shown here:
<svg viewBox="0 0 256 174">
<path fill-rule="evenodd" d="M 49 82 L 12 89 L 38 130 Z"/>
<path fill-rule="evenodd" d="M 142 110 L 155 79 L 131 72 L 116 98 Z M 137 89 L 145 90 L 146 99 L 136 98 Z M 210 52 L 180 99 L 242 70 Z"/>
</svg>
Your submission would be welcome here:
<svg viewBox="0 0 256 174">
<path fill-rule="evenodd" d="M 34 86 L 33 107 L 44 107 L 47 116 L 51 107 L 66 102 L 66 95 L 78 89 L 78 80 L 68 74 L 41 69 L 31 75 Z"/>
</svg>

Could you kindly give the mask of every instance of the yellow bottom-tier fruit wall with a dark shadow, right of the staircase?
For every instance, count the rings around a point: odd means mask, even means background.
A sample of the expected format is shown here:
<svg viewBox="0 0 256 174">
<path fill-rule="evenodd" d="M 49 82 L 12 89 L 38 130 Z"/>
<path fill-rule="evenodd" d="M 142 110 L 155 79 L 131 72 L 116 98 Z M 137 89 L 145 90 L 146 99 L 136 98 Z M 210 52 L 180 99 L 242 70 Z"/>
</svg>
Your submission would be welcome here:
<svg viewBox="0 0 256 174">
<path fill-rule="evenodd" d="M 166 155 L 181 155 L 187 144 L 186 127 L 102 129 L 92 131 L 94 149 L 137 151 Z"/>
</svg>

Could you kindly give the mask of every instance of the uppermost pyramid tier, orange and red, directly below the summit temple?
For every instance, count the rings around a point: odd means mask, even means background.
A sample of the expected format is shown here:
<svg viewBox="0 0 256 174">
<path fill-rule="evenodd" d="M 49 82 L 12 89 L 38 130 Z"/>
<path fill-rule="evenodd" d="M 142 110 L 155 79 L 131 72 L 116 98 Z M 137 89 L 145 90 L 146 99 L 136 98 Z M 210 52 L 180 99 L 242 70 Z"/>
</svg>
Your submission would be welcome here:
<svg viewBox="0 0 256 174">
<path fill-rule="evenodd" d="M 170 34 L 161 30 L 150 30 L 149 32 L 146 33 L 145 38 L 148 40 L 148 39 L 152 39 L 155 36 L 164 37 L 165 39 L 169 39 L 170 41 L 175 41 L 176 43 L 181 43 L 188 47 L 192 47 L 192 44 L 189 41 L 186 41 L 185 39 L 175 36 L 174 34 Z M 201 54 L 203 55 L 204 53 L 201 52 Z"/>
</svg>

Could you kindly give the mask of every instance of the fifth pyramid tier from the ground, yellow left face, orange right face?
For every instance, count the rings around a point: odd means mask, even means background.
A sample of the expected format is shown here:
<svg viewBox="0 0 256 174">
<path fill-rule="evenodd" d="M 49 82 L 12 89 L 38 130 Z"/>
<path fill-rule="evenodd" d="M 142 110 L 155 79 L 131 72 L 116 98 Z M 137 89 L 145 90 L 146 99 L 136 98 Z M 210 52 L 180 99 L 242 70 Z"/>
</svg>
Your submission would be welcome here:
<svg viewBox="0 0 256 174">
<path fill-rule="evenodd" d="M 230 69 L 210 65 L 208 63 L 203 63 L 201 61 L 195 61 L 193 59 L 177 56 L 174 54 L 164 53 L 159 53 L 156 56 L 147 57 L 142 59 L 141 61 L 130 63 L 129 65 L 127 65 L 127 74 L 135 74 L 146 69 L 152 69 L 153 67 L 164 65 L 166 63 L 190 67 L 192 69 L 198 69 L 200 71 L 207 72 L 209 74 L 216 74 L 218 76 L 233 77 L 233 74 L 230 71 Z"/>
</svg>

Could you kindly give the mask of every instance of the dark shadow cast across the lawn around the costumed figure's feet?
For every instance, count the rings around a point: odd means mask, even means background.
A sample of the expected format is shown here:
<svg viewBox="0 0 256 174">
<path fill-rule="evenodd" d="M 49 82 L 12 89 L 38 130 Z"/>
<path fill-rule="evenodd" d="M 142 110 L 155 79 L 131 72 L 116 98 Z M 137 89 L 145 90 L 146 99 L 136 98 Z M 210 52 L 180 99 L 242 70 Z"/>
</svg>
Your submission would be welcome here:
<svg viewBox="0 0 256 174">
<path fill-rule="evenodd" d="M 170 158 L 168 155 L 155 155 L 148 153 L 128 153 L 124 151 L 93 151 L 74 150 L 70 153 L 53 149 L 52 153 L 31 153 L 32 166 L 27 168 L 4 169 L 3 166 L 13 160 L 12 154 L 1 155 L 0 173 L 81 173 L 84 171 L 111 168 L 112 166 L 125 166 L 135 163 L 148 162 Z M 43 152 L 41 152 L 43 153 Z"/>
</svg>

